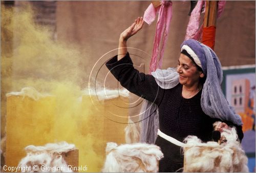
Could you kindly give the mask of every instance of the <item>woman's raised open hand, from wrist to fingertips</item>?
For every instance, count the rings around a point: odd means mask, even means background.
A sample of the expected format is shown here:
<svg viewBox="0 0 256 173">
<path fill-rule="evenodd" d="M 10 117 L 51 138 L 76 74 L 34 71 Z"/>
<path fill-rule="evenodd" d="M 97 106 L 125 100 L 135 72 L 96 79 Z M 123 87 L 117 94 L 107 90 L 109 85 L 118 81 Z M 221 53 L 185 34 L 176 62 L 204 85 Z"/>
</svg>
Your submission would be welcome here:
<svg viewBox="0 0 256 173">
<path fill-rule="evenodd" d="M 142 28 L 143 24 L 143 17 L 138 17 L 129 28 L 120 34 L 120 41 L 127 41 L 127 39 L 136 34 Z"/>
</svg>

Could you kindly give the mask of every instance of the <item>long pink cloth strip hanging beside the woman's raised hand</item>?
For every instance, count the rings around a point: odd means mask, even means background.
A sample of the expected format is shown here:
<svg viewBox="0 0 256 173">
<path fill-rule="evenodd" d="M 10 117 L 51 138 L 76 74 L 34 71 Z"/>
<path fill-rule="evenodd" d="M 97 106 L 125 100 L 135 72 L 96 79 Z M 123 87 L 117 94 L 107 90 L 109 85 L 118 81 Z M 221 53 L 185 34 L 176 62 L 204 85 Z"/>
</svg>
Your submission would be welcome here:
<svg viewBox="0 0 256 173">
<path fill-rule="evenodd" d="M 166 45 L 167 35 L 169 32 L 170 20 L 172 19 L 172 2 L 161 1 L 161 6 L 157 8 L 154 8 L 152 4 L 148 6 L 143 16 L 144 21 L 148 25 L 152 24 L 156 17 L 157 12 L 159 12 L 159 15 L 156 25 L 154 46 L 150 62 L 150 70 L 148 72 L 149 74 L 151 74 L 151 72 L 156 71 L 157 68 L 162 67 L 164 48 Z"/>
</svg>

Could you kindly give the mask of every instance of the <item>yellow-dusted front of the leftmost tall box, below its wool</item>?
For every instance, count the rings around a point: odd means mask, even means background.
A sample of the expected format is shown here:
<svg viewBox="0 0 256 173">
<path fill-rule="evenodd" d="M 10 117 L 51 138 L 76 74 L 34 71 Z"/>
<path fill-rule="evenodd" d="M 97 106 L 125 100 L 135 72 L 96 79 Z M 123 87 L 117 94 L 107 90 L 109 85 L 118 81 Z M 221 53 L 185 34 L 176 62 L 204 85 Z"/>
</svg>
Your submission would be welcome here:
<svg viewBox="0 0 256 173">
<path fill-rule="evenodd" d="M 26 156 L 24 148 L 28 144 L 44 145 L 54 141 L 51 129 L 56 118 L 55 106 L 54 97 L 35 101 L 29 97 L 8 96 L 6 165 L 17 166 L 20 159 Z"/>
</svg>

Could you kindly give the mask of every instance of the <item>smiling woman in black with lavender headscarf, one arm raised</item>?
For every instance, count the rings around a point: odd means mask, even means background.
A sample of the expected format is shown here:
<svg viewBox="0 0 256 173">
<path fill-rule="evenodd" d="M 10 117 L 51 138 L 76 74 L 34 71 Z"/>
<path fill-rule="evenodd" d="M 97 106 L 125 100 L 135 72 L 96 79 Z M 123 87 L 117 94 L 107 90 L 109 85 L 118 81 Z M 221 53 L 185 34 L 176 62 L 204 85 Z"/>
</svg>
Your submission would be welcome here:
<svg viewBox="0 0 256 173">
<path fill-rule="evenodd" d="M 234 125 L 241 141 L 241 117 L 234 114 L 220 91 L 222 70 L 215 53 L 198 41 L 189 39 L 181 45 L 176 72 L 169 72 L 177 79 L 174 77 L 168 83 L 158 79 L 161 76 L 159 71 L 152 75 L 139 73 L 133 67 L 126 42 L 142 26 L 143 18 L 138 17 L 120 34 L 118 55 L 106 62 L 106 66 L 124 88 L 158 106 L 160 131 L 179 141 L 195 135 L 206 142 L 211 140 L 212 124 L 222 121 L 219 131 Z M 160 136 L 157 136 L 155 144 L 164 154 L 159 162 L 159 172 L 181 171 L 181 148 Z"/>
</svg>

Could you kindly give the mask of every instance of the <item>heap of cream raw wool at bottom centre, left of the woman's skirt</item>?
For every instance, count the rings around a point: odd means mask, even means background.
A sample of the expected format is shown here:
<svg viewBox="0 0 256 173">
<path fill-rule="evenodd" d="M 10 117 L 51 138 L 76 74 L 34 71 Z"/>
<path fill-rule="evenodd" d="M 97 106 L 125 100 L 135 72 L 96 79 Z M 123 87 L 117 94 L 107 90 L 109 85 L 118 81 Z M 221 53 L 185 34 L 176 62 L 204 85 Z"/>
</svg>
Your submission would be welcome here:
<svg viewBox="0 0 256 173">
<path fill-rule="evenodd" d="M 108 142 L 106 155 L 102 172 L 158 172 L 159 160 L 163 158 L 159 146 L 146 143 L 118 146 Z"/>
</svg>

